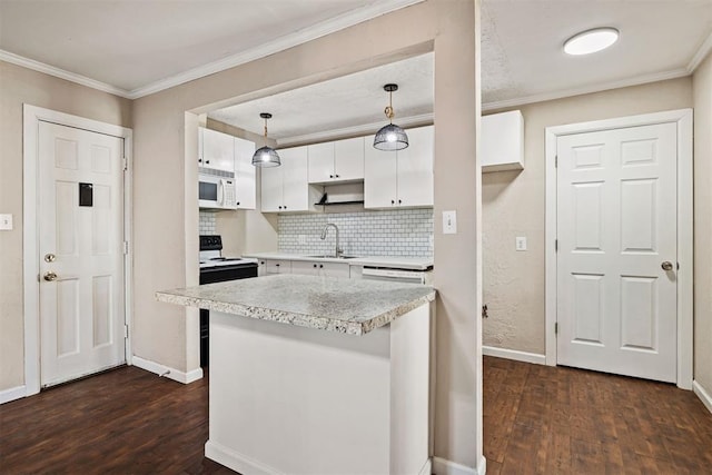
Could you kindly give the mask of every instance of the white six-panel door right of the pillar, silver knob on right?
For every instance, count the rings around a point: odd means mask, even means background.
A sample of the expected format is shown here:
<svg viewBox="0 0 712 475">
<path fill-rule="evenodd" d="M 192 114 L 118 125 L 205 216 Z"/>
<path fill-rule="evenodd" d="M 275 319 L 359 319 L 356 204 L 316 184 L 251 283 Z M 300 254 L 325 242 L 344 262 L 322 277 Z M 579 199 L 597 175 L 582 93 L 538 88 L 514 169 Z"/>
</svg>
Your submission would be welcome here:
<svg viewBox="0 0 712 475">
<path fill-rule="evenodd" d="M 676 140 L 557 138 L 557 364 L 676 380 Z"/>
</svg>

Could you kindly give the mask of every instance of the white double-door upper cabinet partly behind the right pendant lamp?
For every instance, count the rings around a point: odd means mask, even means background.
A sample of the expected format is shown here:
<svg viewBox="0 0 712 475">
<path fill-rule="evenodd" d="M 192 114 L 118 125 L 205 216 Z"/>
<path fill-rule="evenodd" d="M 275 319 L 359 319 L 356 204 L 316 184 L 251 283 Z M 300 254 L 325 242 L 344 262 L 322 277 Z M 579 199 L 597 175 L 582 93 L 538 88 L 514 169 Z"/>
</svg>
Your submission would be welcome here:
<svg viewBox="0 0 712 475">
<path fill-rule="evenodd" d="M 383 151 L 366 147 L 365 208 L 433 206 L 433 126 L 406 132 L 406 149 Z M 366 137 L 366 144 L 373 144 L 373 136 Z"/>
</svg>

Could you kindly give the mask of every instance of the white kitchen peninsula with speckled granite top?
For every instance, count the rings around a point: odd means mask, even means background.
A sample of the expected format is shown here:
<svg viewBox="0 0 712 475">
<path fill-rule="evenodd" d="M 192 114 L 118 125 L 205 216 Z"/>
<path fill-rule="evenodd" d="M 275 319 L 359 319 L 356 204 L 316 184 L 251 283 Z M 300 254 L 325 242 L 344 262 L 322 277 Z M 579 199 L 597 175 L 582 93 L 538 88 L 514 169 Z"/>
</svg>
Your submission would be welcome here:
<svg viewBox="0 0 712 475">
<path fill-rule="evenodd" d="M 159 291 L 210 313 L 206 456 L 249 474 L 429 474 L 428 286 L 274 275 Z"/>
</svg>

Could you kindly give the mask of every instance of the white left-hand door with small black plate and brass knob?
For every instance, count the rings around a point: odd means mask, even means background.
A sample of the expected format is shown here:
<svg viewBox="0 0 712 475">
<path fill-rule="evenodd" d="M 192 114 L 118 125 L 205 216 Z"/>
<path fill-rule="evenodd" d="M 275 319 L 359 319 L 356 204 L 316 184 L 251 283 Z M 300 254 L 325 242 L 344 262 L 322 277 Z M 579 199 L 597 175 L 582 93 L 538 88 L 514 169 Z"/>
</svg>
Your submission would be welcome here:
<svg viewBox="0 0 712 475">
<path fill-rule="evenodd" d="M 39 126 L 41 385 L 126 360 L 123 139 Z"/>
</svg>

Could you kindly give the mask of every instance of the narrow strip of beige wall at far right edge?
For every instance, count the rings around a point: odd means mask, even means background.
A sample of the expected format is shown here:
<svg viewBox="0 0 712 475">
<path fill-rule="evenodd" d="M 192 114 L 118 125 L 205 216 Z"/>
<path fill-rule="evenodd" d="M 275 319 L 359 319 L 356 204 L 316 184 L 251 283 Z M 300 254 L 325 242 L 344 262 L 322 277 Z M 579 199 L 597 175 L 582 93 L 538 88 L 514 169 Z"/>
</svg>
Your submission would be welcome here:
<svg viewBox="0 0 712 475">
<path fill-rule="evenodd" d="M 712 53 L 692 78 L 694 96 L 694 379 L 712 395 Z"/>
</svg>

